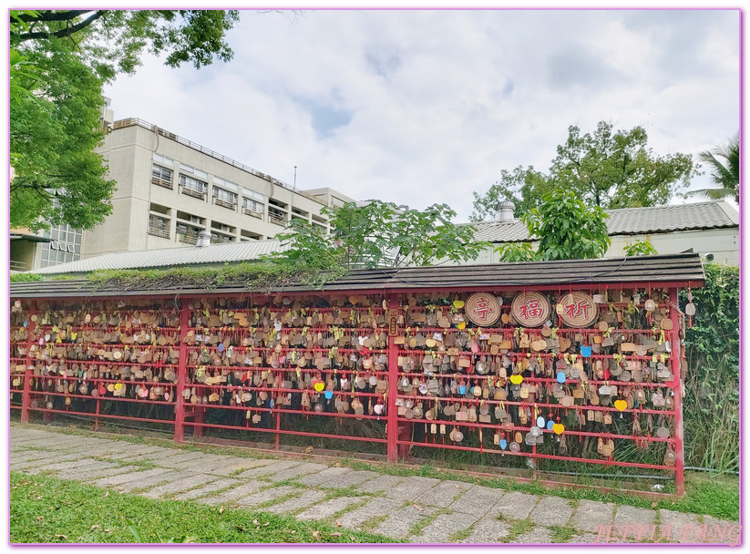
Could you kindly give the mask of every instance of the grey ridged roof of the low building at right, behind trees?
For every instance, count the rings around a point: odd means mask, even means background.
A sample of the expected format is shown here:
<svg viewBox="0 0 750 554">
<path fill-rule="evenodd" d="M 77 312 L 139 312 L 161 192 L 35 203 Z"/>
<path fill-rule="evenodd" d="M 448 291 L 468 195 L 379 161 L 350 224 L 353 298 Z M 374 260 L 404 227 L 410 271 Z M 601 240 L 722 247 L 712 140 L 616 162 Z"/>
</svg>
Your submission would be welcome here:
<svg viewBox="0 0 750 554">
<path fill-rule="evenodd" d="M 640 235 L 653 232 L 721 229 L 739 226 L 739 213 L 724 201 L 696 202 L 673 206 L 607 210 L 610 235 Z M 475 223 L 479 241 L 529 241 L 529 230 L 520 220 L 507 223 Z"/>
</svg>

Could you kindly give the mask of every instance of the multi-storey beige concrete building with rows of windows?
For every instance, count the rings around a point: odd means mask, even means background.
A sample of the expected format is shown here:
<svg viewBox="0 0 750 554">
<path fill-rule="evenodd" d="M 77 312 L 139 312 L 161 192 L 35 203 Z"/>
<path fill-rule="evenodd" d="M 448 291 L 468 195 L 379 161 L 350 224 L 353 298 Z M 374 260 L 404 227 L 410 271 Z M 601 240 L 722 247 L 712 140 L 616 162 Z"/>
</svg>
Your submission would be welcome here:
<svg viewBox="0 0 750 554">
<path fill-rule="evenodd" d="M 325 206 L 354 201 L 331 189 L 295 190 L 256 169 L 141 119 L 112 123 L 98 149 L 117 180 L 107 220 L 84 231 L 82 257 L 211 242 L 270 239 L 293 219 L 330 232 Z"/>
</svg>

